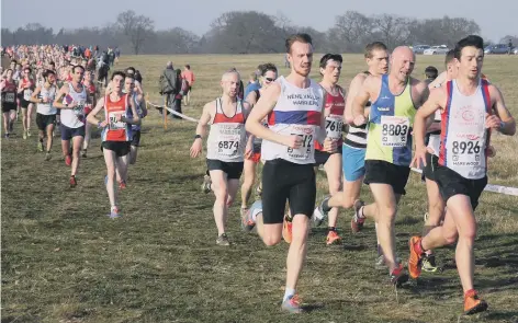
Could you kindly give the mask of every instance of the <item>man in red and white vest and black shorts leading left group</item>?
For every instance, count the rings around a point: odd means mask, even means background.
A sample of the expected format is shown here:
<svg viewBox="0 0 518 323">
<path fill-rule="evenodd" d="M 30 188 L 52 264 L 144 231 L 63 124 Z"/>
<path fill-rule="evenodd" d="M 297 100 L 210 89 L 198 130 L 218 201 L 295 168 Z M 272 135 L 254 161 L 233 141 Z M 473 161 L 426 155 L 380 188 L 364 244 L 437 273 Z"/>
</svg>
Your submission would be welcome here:
<svg viewBox="0 0 518 323">
<path fill-rule="evenodd" d="M 108 198 L 110 199 L 110 215 L 114 219 L 121 217 L 121 209 L 117 205 L 117 189 L 115 187 L 116 173 L 120 174 L 122 183 L 126 182 L 127 154 L 130 153 L 130 141 L 132 140 L 131 125 L 139 125 L 135 102 L 130 100 L 128 94 L 122 92 L 125 74 L 115 71 L 111 78 L 111 91 L 104 95 L 104 100 L 99 100 L 95 107 L 88 115 L 88 122 L 102 129 L 101 150 L 104 155 L 108 175 L 104 177 Z M 104 108 L 104 120 L 99 120 L 95 116 Z M 132 118 L 128 115 L 132 115 Z"/>
</svg>

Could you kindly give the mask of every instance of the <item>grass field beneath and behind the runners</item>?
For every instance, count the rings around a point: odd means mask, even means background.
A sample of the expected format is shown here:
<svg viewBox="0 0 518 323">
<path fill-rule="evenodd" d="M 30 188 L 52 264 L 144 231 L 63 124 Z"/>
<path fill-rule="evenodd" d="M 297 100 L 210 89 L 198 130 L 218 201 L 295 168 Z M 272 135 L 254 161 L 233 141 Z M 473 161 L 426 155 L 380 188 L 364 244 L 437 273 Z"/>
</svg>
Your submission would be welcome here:
<svg viewBox="0 0 518 323">
<path fill-rule="evenodd" d="M 316 55 L 315 60 L 319 59 Z M 414 74 L 426 66 L 442 67 L 443 57 L 417 57 Z M 167 60 L 189 62 L 196 76 L 192 106 L 219 93 L 223 71 L 236 67 L 244 79 L 269 56 L 125 56 L 120 68 L 143 72 L 150 101 L 159 103 L 157 78 Z M 345 86 L 364 69 L 361 56 L 345 56 Z M 281 68 L 281 74 L 286 70 Z M 313 77 L 318 79 L 314 67 Z M 487 57 L 484 73 L 503 91 L 518 115 L 518 57 Z M 341 246 L 325 245 L 325 229 L 314 229 L 299 292 L 312 311 L 294 319 L 280 311 L 288 244 L 266 247 L 240 231 L 239 200 L 230 210 L 228 234 L 234 245 L 215 244 L 214 197 L 200 192 L 203 158 L 191 160 L 195 125 L 161 125 L 153 109 L 144 120 L 137 164 L 120 194 L 123 218 L 111 220 L 103 185 L 100 139 L 81 160 L 78 183 L 68 188 L 69 169 L 58 137 L 53 160 L 36 152 L 36 137 L 2 139 L 2 323 L 3 322 L 518 322 L 518 198 L 484 193 L 477 209 L 475 288 L 489 311 L 460 318 L 462 289 L 452 266 L 454 249 L 439 250 L 443 274 L 427 274 L 398 289 L 387 273 L 374 268 L 373 224 L 352 234 L 351 212 L 341 211 Z M 33 134 L 36 126 L 33 124 Z M 518 186 L 517 137 L 494 136 L 489 183 Z M 326 194 L 318 175 L 318 200 Z M 407 240 L 423 228 L 426 192 L 413 174 L 397 217 L 397 250 L 407 258 Z M 368 187 L 363 198 L 371 200 Z"/>
</svg>

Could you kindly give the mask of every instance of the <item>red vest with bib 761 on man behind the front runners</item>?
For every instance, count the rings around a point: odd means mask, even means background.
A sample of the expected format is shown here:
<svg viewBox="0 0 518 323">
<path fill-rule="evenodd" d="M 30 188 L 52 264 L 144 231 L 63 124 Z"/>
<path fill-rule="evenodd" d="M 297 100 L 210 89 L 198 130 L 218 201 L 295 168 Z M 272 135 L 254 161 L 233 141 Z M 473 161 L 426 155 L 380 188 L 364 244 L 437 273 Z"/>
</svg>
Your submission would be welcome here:
<svg viewBox="0 0 518 323">
<path fill-rule="evenodd" d="M 341 145 L 341 127 L 344 126 L 344 109 L 346 108 L 346 100 L 342 90 L 338 86 L 338 95 L 328 92 L 325 94 L 324 114 L 326 115 L 326 137 Z M 316 150 L 324 150 L 320 142 L 315 141 Z"/>
</svg>

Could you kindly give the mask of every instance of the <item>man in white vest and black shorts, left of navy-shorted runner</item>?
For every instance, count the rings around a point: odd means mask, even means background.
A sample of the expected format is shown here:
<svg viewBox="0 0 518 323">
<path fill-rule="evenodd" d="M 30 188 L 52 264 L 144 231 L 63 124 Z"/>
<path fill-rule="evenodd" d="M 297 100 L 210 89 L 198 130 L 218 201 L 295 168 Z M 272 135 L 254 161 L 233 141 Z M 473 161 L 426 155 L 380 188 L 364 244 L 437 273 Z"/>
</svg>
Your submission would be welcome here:
<svg viewBox="0 0 518 323">
<path fill-rule="evenodd" d="M 36 125 L 38 129 L 37 150 L 43 152 L 43 139 L 47 136 L 45 160 L 50 160 L 50 149 L 53 148 L 53 131 L 56 126 L 57 109 L 53 106 L 56 96 L 56 73 L 46 70 L 43 73 L 44 83 L 36 88 L 31 96 L 31 102 L 36 103 Z"/>
</svg>

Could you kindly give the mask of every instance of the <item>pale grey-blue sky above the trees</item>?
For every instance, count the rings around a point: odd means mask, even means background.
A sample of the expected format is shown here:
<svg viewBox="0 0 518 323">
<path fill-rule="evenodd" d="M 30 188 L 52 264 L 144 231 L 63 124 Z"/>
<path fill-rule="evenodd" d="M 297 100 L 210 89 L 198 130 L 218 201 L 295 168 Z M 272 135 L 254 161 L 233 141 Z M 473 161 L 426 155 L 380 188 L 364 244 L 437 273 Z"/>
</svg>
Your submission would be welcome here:
<svg viewBox="0 0 518 323">
<path fill-rule="evenodd" d="M 34 22 L 53 27 L 55 32 L 61 26 L 102 26 L 114 22 L 117 13 L 127 9 L 155 20 L 156 28 L 180 26 L 198 35 L 209 31 L 210 23 L 219 14 L 232 10 L 257 10 L 273 15 L 282 12 L 294 24 L 326 31 L 334 24 L 335 15 L 356 10 L 368 15 L 391 13 L 417 19 L 446 14 L 464 16 L 474 19 L 487 39 L 518 35 L 517 0 L 1 0 L 1 3 L 2 27 L 16 28 Z M 79 13 L 81 10 L 83 18 Z"/>
</svg>

